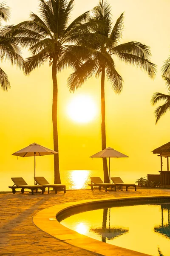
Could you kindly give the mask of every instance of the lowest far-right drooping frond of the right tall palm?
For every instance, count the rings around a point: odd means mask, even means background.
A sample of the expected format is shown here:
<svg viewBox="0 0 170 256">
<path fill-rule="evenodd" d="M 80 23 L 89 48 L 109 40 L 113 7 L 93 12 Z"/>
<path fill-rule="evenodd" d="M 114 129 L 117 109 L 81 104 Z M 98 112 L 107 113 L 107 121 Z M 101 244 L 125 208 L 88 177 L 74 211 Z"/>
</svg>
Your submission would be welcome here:
<svg viewBox="0 0 170 256">
<path fill-rule="evenodd" d="M 122 61 L 132 64 L 136 67 L 140 67 L 144 72 L 148 74 L 148 76 L 150 76 L 150 78 L 153 79 L 155 77 L 156 65 L 151 63 L 149 60 L 125 52 L 119 52 L 117 55 L 118 58 Z"/>
</svg>

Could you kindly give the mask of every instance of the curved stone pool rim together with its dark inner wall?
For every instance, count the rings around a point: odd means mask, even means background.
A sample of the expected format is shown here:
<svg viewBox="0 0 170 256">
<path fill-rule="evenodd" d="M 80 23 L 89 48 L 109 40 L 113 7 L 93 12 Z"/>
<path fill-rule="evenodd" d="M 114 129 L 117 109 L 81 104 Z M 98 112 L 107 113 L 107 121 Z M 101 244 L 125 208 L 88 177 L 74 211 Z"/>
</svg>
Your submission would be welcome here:
<svg viewBox="0 0 170 256">
<path fill-rule="evenodd" d="M 147 204 L 147 203 L 159 203 L 162 201 L 169 201 L 170 196 L 148 196 L 148 197 L 134 197 L 134 198 L 119 198 L 119 199 L 94 199 L 94 200 L 82 200 L 76 202 L 69 202 L 65 204 L 58 204 L 52 207 L 45 208 L 37 212 L 33 221 L 34 224 L 45 233 L 53 236 L 55 239 L 63 241 L 65 243 L 80 247 L 82 249 L 91 251 L 93 253 L 99 253 L 104 256 L 149 256 L 149 254 L 140 253 L 134 250 L 125 249 L 112 244 L 107 244 L 96 239 L 92 239 L 88 236 L 77 233 L 62 224 L 59 223 L 67 216 L 80 212 L 80 209 L 91 209 L 95 205 L 112 204 L 115 207 L 121 207 L 127 204 Z M 72 214 L 71 214 L 72 213 Z M 66 217 L 65 217 L 66 216 Z M 138 230 L 136 229 L 136 233 Z"/>
</svg>

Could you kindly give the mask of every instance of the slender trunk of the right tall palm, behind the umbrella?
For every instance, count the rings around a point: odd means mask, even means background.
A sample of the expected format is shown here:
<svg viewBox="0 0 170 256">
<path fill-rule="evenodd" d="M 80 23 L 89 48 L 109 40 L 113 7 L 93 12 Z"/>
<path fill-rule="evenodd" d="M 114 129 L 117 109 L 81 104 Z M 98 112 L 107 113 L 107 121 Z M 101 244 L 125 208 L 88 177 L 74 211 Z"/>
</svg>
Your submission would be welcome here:
<svg viewBox="0 0 170 256">
<path fill-rule="evenodd" d="M 106 127 L 105 127 L 105 67 L 102 67 L 101 76 L 101 113 L 102 113 L 102 150 L 106 148 Z M 103 160 L 104 183 L 109 183 L 107 159 Z"/>
</svg>

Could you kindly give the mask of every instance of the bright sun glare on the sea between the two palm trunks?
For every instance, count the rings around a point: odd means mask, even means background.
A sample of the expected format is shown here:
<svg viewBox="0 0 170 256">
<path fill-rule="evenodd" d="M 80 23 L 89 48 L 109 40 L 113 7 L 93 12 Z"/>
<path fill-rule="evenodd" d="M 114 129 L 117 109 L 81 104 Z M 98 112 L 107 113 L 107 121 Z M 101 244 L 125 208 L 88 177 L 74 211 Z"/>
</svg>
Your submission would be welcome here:
<svg viewBox="0 0 170 256">
<path fill-rule="evenodd" d="M 87 187 L 89 180 L 89 171 L 86 170 L 74 170 L 71 172 L 71 189 L 83 189 Z"/>
</svg>

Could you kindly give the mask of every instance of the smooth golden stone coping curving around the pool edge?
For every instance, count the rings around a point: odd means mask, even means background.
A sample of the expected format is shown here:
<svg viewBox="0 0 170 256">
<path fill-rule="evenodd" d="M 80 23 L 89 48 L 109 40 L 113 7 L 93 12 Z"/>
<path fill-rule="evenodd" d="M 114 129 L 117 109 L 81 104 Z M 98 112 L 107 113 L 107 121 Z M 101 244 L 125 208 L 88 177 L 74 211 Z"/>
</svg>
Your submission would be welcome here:
<svg viewBox="0 0 170 256">
<path fill-rule="evenodd" d="M 45 233 L 48 233 L 53 238 L 62 241 L 67 244 L 82 248 L 84 250 L 91 251 L 93 253 L 98 253 L 104 256 L 150 256 L 149 254 L 140 253 L 134 250 L 125 249 L 123 247 L 118 247 L 112 244 L 103 243 L 102 241 L 90 238 L 88 236 L 77 233 L 74 230 L 71 230 L 57 221 L 56 216 L 61 214 L 67 209 L 73 209 L 79 205 L 87 205 L 98 202 L 107 202 L 107 201 L 139 201 L 140 199 L 163 199 L 170 198 L 170 196 L 144 196 L 144 197 L 122 197 L 122 198 L 113 198 L 113 199 L 88 199 L 75 202 L 68 202 L 65 204 L 58 204 L 52 207 L 45 208 L 40 210 L 33 216 L 34 224 Z M 123 205 L 122 205 L 123 206 Z"/>
</svg>

